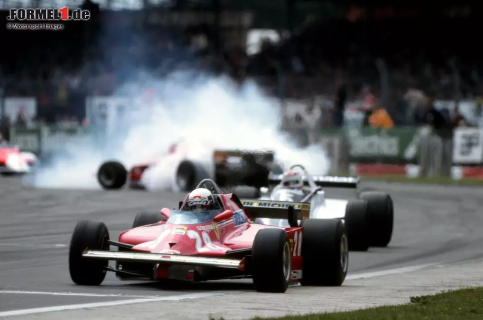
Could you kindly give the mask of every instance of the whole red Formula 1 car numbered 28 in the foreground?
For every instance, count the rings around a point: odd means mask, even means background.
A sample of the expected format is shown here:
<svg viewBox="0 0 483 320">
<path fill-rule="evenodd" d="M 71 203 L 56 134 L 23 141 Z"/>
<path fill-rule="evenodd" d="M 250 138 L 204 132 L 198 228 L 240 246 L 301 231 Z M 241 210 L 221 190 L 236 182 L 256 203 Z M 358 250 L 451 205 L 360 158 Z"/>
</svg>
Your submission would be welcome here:
<svg viewBox="0 0 483 320">
<path fill-rule="evenodd" d="M 69 272 L 76 284 L 99 285 L 106 271 L 121 280 L 208 281 L 252 278 L 260 292 L 285 292 L 290 283 L 341 285 L 348 267 L 345 226 L 337 219 L 308 219 L 309 203 L 240 200 L 212 180 L 217 209 L 140 213 L 119 241 L 104 223 L 79 221 L 70 241 Z M 289 228 L 253 223 L 257 217 L 289 220 Z M 299 225 L 301 220 L 301 225 Z M 109 250 L 116 246 L 117 251 Z M 108 261 L 116 261 L 116 267 Z"/>
</svg>

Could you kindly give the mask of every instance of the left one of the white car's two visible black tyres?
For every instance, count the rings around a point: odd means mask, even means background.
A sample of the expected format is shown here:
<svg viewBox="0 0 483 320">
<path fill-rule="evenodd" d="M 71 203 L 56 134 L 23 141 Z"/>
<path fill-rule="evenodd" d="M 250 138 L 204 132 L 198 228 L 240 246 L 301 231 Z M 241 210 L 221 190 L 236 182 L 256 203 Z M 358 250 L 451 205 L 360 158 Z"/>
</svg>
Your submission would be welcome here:
<svg viewBox="0 0 483 320">
<path fill-rule="evenodd" d="M 370 246 L 369 207 L 366 201 L 352 200 L 345 208 L 345 229 L 349 250 L 367 251 Z"/>
</svg>

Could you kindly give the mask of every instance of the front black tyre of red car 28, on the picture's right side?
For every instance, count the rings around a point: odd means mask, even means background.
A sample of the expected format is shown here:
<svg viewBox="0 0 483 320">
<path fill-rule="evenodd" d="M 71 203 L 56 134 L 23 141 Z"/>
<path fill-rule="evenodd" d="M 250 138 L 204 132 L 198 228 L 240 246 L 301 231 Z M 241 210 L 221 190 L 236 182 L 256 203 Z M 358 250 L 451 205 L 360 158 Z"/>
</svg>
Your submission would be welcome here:
<svg viewBox="0 0 483 320">
<path fill-rule="evenodd" d="M 287 290 L 292 272 L 292 255 L 283 229 L 261 229 L 253 241 L 252 277 L 258 292 Z"/>
</svg>

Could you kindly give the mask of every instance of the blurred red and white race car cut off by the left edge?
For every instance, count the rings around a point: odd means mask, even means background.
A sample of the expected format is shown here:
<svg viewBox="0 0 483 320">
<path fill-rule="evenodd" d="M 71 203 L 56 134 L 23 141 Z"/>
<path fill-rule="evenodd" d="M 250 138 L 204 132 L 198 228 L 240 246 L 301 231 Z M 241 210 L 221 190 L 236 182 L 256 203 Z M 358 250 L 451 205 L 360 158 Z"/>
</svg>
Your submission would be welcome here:
<svg viewBox="0 0 483 320">
<path fill-rule="evenodd" d="M 2 176 L 27 174 L 37 163 L 37 156 L 28 151 L 20 151 L 15 146 L 3 142 L 0 144 L 0 173 Z"/>
</svg>

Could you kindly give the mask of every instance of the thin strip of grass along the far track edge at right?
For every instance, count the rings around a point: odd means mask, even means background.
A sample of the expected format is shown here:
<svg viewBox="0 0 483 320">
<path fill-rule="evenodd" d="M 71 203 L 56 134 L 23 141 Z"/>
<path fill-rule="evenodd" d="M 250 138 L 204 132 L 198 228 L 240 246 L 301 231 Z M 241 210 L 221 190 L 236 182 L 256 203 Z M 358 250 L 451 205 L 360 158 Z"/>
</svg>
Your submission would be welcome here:
<svg viewBox="0 0 483 320">
<path fill-rule="evenodd" d="M 417 177 L 408 178 L 404 176 L 363 176 L 364 180 L 376 180 L 387 182 L 403 182 L 403 183 L 426 183 L 426 184 L 447 184 L 447 185 L 469 185 L 469 186 L 483 186 L 483 179 L 464 178 L 461 180 L 453 180 L 449 177 Z"/>
</svg>

